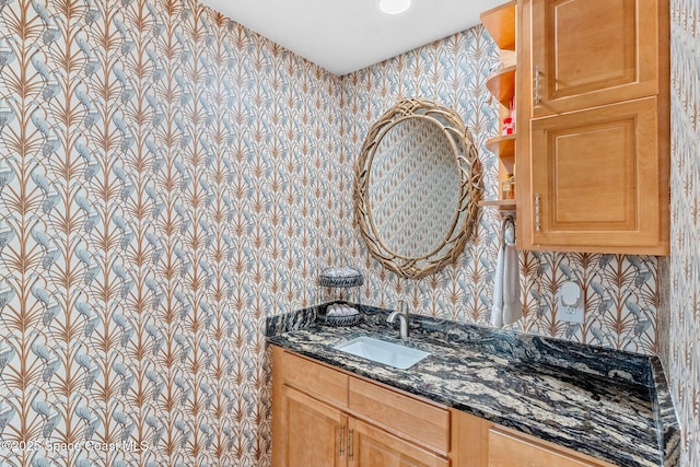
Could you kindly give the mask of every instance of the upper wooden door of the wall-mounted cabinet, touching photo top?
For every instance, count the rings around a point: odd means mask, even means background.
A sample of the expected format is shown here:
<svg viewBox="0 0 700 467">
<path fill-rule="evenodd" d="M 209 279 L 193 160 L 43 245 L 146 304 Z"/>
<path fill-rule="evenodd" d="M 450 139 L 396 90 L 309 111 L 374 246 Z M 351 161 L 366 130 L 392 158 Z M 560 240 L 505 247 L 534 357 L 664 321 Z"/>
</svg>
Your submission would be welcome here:
<svg viewBox="0 0 700 467">
<path fill-rule="evenodd" d="M 533 0 L 533 116 L 656 94 L 657 17 L 656 0 Z"/>
</svg>

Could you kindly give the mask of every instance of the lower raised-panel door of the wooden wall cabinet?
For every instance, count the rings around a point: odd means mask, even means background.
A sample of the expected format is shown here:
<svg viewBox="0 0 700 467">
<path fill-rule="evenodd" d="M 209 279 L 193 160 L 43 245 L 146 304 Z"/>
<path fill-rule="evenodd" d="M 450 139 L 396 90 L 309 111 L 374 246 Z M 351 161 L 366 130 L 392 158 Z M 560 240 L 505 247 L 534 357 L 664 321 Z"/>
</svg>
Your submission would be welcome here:
<svg viewBox="0 0 700 467">
<path fill-rule="evenodd" d="M 532 121 L 533 243 L 658 248 L 656 98 Z"/>
</svg>

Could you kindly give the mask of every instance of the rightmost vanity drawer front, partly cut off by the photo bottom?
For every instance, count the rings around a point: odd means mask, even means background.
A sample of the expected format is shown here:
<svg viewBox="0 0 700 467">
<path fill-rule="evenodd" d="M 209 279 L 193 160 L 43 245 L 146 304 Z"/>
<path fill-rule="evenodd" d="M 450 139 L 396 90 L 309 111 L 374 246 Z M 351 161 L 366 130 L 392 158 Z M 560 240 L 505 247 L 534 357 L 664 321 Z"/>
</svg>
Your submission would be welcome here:
<svg viewBox="0 0 700 467">
<path fill-rule="evenodd" d="M 614 467 L 588 456 L 564 453 L 556 447 L 529 441 L 510 432 L 489 430 L 488 467 Z"/>
</svg>

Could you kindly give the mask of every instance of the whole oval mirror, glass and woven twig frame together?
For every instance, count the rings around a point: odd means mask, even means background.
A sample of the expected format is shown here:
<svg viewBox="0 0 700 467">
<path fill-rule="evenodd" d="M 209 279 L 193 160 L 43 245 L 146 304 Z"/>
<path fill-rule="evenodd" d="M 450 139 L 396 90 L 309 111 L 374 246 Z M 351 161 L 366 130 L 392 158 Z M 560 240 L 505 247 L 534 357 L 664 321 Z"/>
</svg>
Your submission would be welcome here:
<svg viewBox="0 0 700 467">
<path fill-rule="evenodd" d="M 355 217 L 389 270 L 420 279 L 453 262 L 480 194 L 477 150 L 454 110 L 406 100 L 372 126 L 355 166 Z"/>
</svg>

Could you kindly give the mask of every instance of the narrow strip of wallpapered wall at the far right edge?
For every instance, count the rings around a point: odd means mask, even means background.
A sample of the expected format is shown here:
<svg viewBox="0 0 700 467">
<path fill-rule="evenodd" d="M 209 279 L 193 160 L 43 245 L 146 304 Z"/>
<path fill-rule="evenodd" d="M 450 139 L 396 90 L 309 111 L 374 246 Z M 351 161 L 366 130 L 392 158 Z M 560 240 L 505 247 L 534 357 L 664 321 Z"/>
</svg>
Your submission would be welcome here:
<svg viewBox="0 0 700 467">
<path fill-rule="evenodd" d="M 661 336 L 682 432 L 680 465 L 695 467 L 700 465 L 700 0 L 672 0 L 670 8 L 670 317 Z"/>
</svg>

